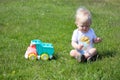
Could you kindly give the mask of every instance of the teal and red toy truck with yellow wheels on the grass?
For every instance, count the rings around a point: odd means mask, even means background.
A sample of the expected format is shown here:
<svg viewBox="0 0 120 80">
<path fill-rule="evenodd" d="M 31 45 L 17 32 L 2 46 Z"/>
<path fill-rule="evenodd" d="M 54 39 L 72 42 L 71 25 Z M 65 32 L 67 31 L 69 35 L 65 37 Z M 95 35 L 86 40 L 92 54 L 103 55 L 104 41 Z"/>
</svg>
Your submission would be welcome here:
<svg viewBox="0 0 120 80">
<path fill-rule="evenodd" d="M 52 59 L 54 54 L 54 47 L 51 43 L 43 43 L 41 40 L 31 40 L 30 46 L 27 48 L 25 58 L 30 60 Z"/>
</svg>

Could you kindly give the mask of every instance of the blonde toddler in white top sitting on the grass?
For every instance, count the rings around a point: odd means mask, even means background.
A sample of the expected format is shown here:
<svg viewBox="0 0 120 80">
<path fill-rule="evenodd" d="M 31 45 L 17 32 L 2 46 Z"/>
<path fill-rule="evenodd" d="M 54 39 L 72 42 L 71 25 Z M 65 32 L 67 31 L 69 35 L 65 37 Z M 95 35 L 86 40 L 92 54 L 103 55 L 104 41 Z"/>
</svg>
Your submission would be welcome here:
<svg viewBox="0 0 120 80">
<path fill-rule="evenodd" d="M 92 24 L 90 11 L 86 8 L 78 8 L 75 24 L 77 29 L 73 31 L 71 41 L 74 49 L 70 51 L 70 56 L 76 58 L 78 62 L 89 60 L 97 54 L 93 44 L 101 42 L 101 38 L 97 37 L 94 30 L 90 28 Z"/>
</svg>

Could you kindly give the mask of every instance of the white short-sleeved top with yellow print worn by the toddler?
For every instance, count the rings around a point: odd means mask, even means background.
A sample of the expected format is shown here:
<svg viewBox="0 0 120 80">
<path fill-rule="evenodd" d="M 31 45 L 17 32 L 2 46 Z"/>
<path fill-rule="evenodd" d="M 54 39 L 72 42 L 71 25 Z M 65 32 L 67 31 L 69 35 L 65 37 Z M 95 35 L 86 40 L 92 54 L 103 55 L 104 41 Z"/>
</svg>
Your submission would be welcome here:
<svg viewBox="0 0 120 80">
<path fill-rule="evenodd" d="M 96 38 L 94 30 L 90 28 L 88 32 L 83 33 L 78 29 L 75 29 L 72 35 L 72 41 L 75 41 L 77 44 L 82 44 L 84 47 L 83 50 L 88 50 L 93 48 L 93 40 Z"/>
</svg>

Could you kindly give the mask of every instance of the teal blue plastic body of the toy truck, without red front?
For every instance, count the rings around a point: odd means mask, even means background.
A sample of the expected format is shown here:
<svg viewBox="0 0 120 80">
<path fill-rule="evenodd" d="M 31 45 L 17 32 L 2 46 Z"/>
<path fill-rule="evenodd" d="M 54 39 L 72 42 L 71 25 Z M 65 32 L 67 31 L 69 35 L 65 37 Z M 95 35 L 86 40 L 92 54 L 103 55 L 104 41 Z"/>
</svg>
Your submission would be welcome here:
<svg viewBox="0 0 120 80">
<path fill-rule="evenodd" d="M 31 40 L 31 44 L 36 45 L 37 55 L 41 57 L 42 54 L 47 54 L 51 59 L 54 54 L 54 47 L 51 43 L 43 43 L 41 40 Z"/>
</svg>

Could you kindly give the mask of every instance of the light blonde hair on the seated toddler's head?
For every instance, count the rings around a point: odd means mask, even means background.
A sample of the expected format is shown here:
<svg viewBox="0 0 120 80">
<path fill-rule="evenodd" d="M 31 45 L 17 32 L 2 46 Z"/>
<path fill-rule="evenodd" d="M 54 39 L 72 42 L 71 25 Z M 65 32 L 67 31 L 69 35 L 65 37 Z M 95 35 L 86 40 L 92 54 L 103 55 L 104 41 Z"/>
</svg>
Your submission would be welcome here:
<svg viewBox="0 0 120 80">
<path fill-rule="evenodd" d="M 84 7 L 80 7 L 77 9 L 75 18 L 76 18 L 75 23 L 80 22 L 88 25 L 92 24 L 91 13 Z"/>
</svg>

